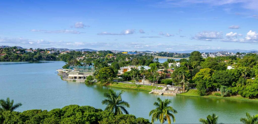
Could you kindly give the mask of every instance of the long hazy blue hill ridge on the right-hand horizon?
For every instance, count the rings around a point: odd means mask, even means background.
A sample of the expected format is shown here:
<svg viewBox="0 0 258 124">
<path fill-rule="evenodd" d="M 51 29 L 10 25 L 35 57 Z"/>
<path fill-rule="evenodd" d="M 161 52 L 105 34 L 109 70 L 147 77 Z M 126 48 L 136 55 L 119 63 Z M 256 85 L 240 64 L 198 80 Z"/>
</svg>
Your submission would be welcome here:
<svg viewBox="0 0 258 124">
<path fill-rule="evenodd" d="M 170 52 L 178 52 L 178 53 L 191 53 L 192 51 L 199 51 L 199 52 L 220 52 L 220 51 L 227 51 L 227 52 L 256 52 L 258 50 L 240 50 L 240 49 L 234 49 L 234 50 L 225 50 L 225 49 L 217 49 L 217 50 L 184 50 L 184 51 L 170 51 Z"/>
</svg>

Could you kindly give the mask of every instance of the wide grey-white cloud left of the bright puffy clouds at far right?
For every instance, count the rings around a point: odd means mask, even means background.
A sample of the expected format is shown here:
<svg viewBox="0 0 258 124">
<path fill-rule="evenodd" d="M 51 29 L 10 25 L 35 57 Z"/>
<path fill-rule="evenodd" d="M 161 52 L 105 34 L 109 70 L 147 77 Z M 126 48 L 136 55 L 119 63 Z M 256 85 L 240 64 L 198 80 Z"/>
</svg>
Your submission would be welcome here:
<svg viewBox="0 0 258 124">
<path fill-rule="evenodd" d="M 222 32 L 217 31 L 203 31 L 196 34 L 191 39 L 212 41 L 213 39 L 223 39 Z"/>
</svg>

